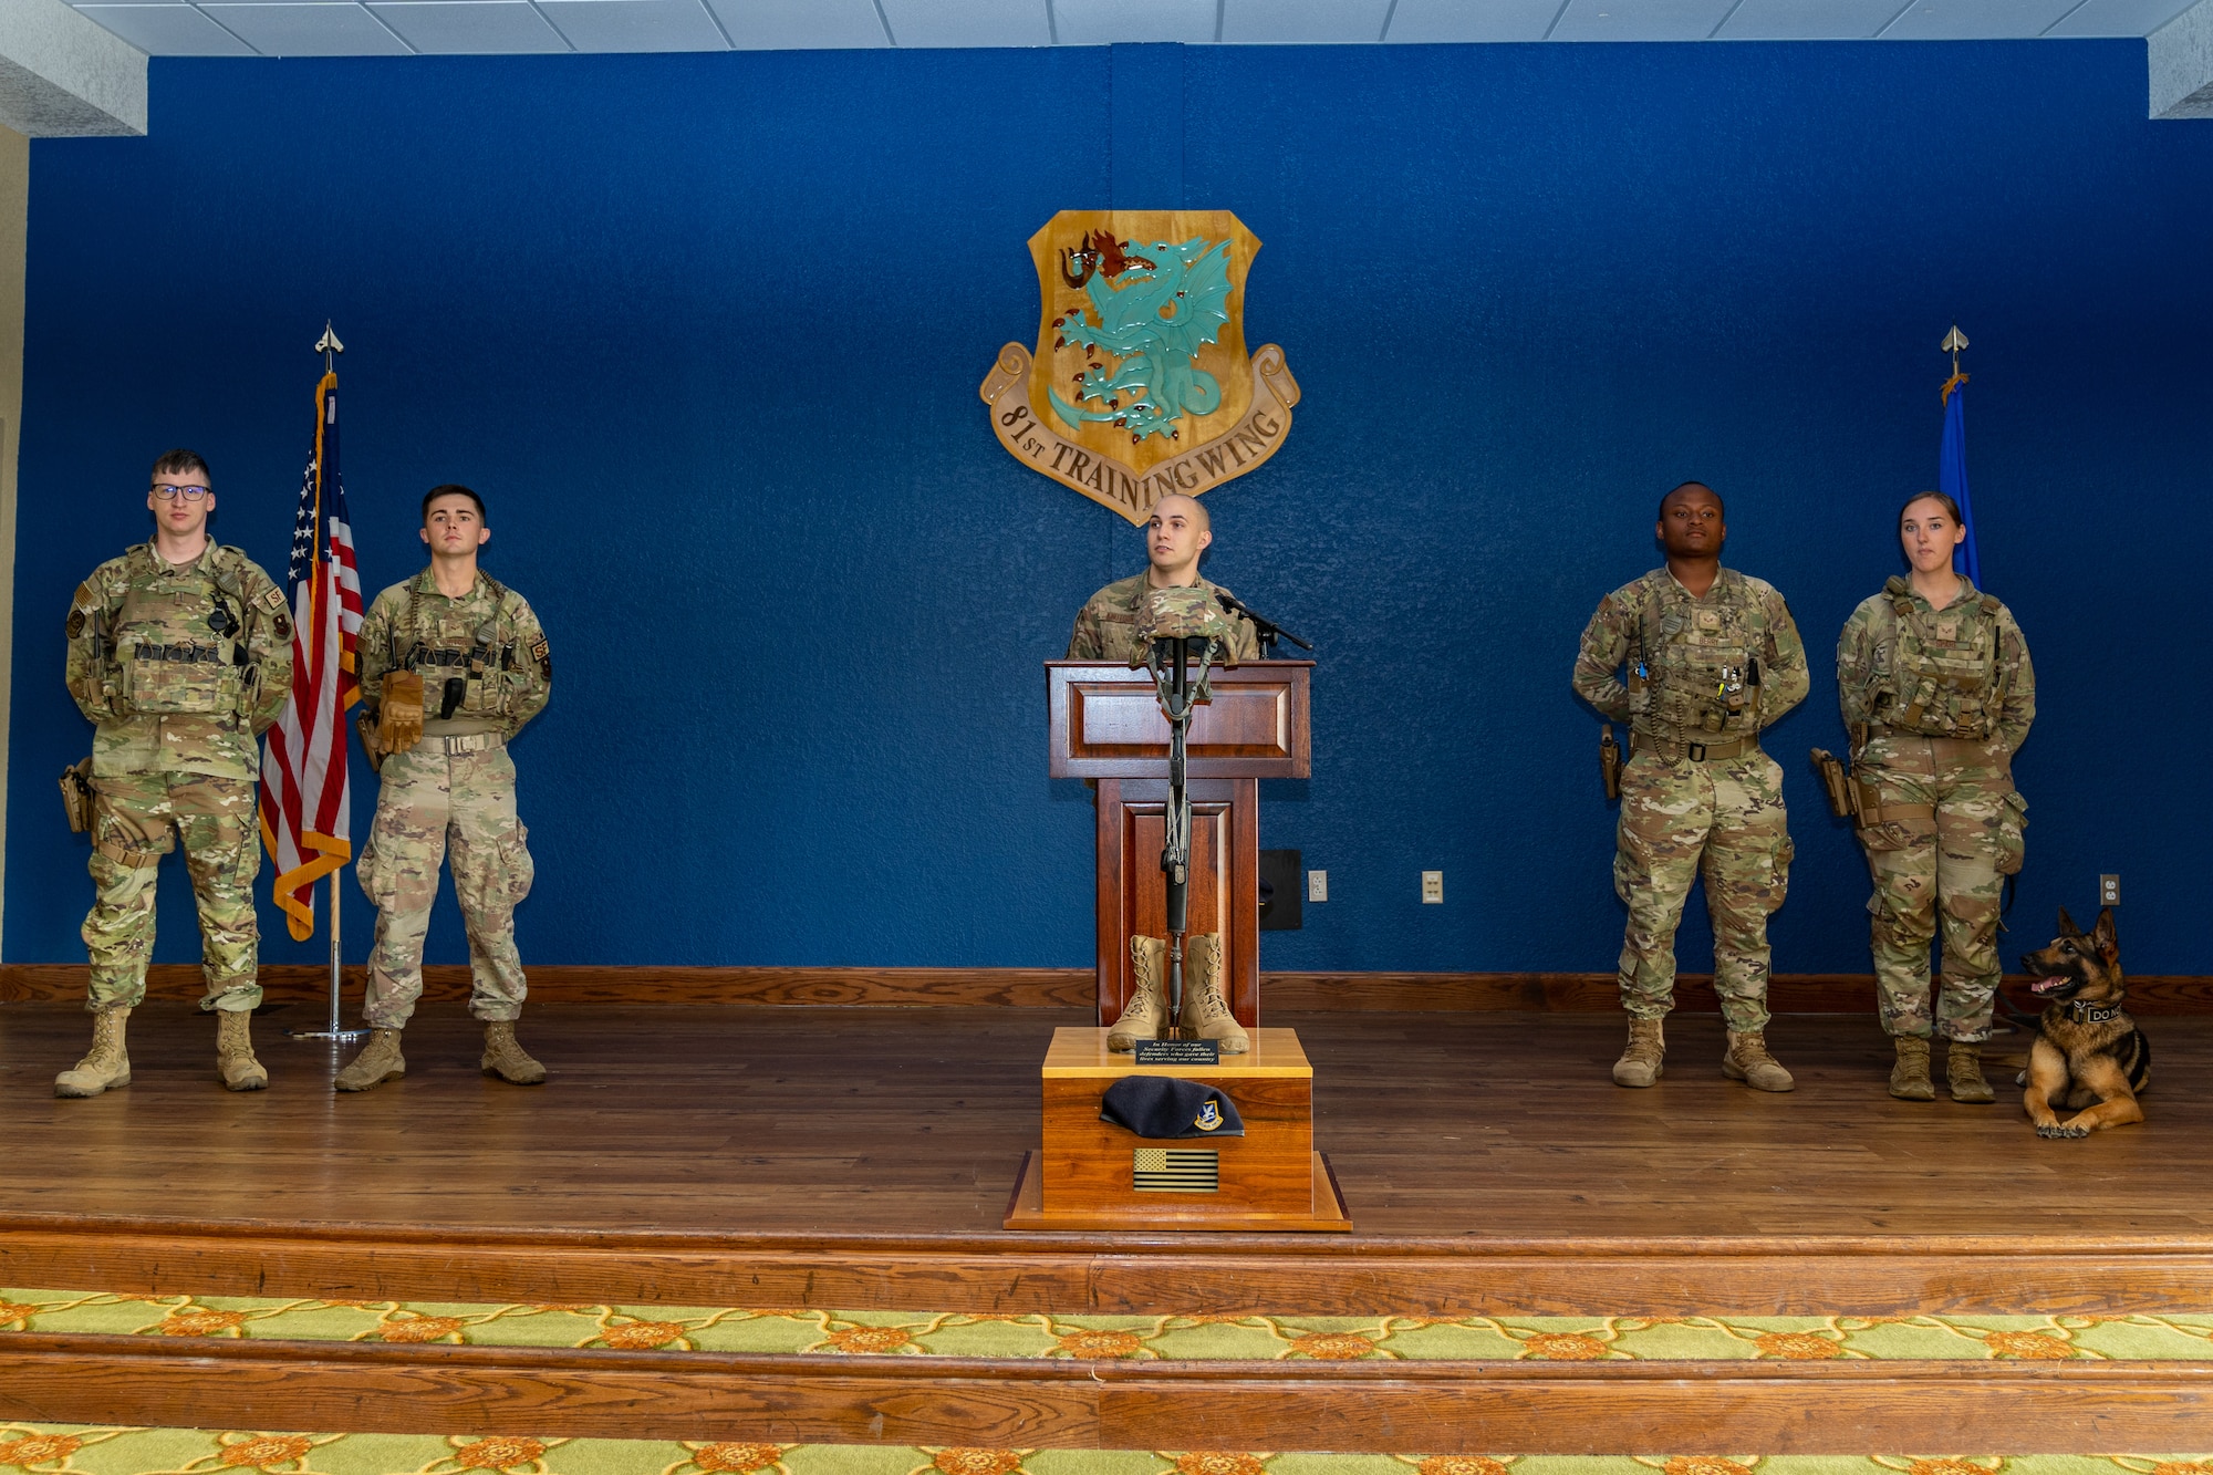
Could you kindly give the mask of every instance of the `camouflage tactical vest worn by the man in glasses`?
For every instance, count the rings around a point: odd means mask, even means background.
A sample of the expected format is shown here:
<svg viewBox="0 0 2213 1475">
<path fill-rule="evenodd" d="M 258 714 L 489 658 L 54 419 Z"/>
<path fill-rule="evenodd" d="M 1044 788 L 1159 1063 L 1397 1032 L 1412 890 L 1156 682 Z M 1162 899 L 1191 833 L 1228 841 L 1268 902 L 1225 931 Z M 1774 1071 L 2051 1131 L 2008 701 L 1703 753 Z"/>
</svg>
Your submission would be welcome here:
<svg viewBox="0 0 2213 1475">
<path fill-rule="evenodd" d="M 215 549 L 184 576 L 131 569 L 128 578 L 108 633 L 115 713 L 243 715 L 259 675 L 246 651 L 246 622 L 257 613 L 232 549 Z"/>
</svg>

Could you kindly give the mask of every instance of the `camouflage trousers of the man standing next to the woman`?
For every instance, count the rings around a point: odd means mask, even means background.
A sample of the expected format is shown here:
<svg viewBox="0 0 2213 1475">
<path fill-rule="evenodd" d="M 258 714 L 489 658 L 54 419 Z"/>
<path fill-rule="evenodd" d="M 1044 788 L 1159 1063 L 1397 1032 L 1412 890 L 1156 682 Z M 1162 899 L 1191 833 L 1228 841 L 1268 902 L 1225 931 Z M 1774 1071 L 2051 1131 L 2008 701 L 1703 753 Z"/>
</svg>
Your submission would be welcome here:
<svg viewBox="0 0 2213 1475">
<path fill-rule="evenodd" d="M 1675 926 L 1691 881 L 1706 873 L 1713 992 L 1737 1034 L 1768 1023 L 1768 915 L 1790 881 L 1784 771 L 1753 749 L 1728 760 L 1638 753 L 1622 771 L 1613 890 L 1622 930 L 1622 1008 L 1660 1019 L 1675 1008 Z"/>
</svg>

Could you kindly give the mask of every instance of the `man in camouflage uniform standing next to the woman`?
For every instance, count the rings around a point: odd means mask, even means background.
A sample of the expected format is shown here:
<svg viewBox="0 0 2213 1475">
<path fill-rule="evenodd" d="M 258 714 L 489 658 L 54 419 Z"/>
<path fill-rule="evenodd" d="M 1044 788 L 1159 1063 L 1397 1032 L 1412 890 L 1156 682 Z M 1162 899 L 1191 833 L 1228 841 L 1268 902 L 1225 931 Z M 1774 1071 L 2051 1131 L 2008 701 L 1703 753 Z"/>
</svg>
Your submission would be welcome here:
<svg viewBox="0 0 2213 1475">
<path fill-rule="evenodd" d="M 1708 487 L 1669 492 L 1658 532 L 1669 565 L 1600 600 L 1573 678 L 1578 695 L 1631 731 L 1613 857 L 1613 890 L 1629 906 L 1629 1048 L 1613 1079 L 1651 1085 L 1662 1074 L 1675 928 L 1704 868 L 1713 990 L 1728 1025 L 1722 1070 L 1786 1092 L 1790 1072 L 1768 1054 L 1766 1025 L 1768 915 L 1790 879 L 1790 828 L 1759 729 L 1806 700 L 1806 649 L 1784 596 L 1720 567 L 1726 527 Z"/>
</svg>

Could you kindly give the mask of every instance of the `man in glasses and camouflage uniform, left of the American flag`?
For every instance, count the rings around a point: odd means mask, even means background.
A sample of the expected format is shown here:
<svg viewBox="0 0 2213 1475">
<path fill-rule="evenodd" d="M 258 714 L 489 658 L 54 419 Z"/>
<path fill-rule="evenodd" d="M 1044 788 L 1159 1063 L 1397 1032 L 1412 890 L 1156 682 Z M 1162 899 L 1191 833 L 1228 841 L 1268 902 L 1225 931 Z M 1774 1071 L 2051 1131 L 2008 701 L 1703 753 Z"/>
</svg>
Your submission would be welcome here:
<svg viewBox="0 0 2213 1475">
<path fill-rule="evenodd" d="M 261 928 L 259 735 L 292 691 L 292 616 L 246 554 L 208 538 L 208 463 L 175 450 L 155 461 L 150 543 L 93 569 L 69 609 L 69 693 L 93 731 L 91 955 L 93 1050 L 55 1076 L 55 1096 L 131 1083 L 124 1025 L 146 999 L 155 879 L 184 842 L 199 906 L 201 1010 L 217 1017 L 217 1070 L 254 1092 L 248 1019 Z"/>
</svg>

